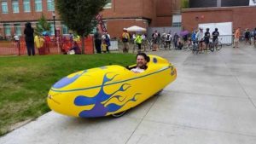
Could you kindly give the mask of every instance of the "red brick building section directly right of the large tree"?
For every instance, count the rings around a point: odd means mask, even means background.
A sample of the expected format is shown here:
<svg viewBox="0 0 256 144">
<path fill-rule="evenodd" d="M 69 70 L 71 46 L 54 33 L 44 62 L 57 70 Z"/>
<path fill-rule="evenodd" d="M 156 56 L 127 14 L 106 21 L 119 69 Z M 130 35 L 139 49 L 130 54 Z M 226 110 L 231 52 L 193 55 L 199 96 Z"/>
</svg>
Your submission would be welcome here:
<svg viewBox="0 0 256 144">
<path fill-rule="evenodd" d="M 176 13 L 180 13 L 180 0 L 113 0 L 102 15 L 110 35 L 118 37 L 124 27 L 172 26 Z"/>
</svg>

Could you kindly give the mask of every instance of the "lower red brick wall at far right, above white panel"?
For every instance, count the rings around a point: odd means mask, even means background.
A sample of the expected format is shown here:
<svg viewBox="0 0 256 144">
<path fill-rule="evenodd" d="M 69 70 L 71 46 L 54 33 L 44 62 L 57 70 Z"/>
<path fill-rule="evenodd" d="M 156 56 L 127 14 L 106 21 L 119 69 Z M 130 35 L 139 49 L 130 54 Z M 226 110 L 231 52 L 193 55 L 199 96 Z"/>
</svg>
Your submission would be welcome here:
<svg viewBox="0 0 256 144">
<path fill-rule="evenodd" d="M 182 9 L 182 25 L 183 29 L 192 31 L 198 24 L 232 22 L 234 29 L 252 30 L 256 27 L 255 14 L 255 6 Z"/>
</svg>

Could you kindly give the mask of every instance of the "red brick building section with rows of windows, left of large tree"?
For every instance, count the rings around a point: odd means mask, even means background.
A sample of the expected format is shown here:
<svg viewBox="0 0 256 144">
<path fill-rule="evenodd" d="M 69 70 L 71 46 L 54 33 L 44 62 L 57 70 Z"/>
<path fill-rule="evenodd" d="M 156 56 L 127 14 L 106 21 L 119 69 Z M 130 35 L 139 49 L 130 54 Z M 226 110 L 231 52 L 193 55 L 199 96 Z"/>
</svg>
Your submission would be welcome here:
<svg viewBox="0 0 256 144">
<path fill-rule="evenodd" d="M 11 37 L 15 33 L 23 35 L 25 23 L 32 22 L 34 27 L 42 14 L 49 20 L 51 31 L 54 32 L 54 11 L 54 0 L 2 0 L 0 36 Z M 67 29 L 66 26 L 61 25 L 57 14 L 55 14 L 55 26 L 56 28 L 63 27 L 64 31 Z"/>
</svg>

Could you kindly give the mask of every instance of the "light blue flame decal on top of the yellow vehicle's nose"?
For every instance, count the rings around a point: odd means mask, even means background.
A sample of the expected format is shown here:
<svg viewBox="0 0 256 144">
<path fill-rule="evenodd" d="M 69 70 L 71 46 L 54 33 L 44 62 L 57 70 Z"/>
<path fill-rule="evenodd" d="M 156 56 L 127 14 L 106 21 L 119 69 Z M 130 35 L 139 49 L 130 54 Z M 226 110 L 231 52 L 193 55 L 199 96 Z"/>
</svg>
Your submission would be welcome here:
<svg viewBox="0 0 256 144">
<path fill-rule="evenodd" d="M 74 81 L 76 81 L 79 77 L 81 77 L 85 72 L 87 72 L 86 70 L 84 72 L 82 72 L 81 74 L 76 74 L 75 76 L 73 76 L 72 78 L 62 78 L 60 81 L 58 81 L 57 83 L 55 83 L 53 85 L 53 88 L 55 89 L 61 89 L 65 86 L 67 86 L 68 84 L 72 84 Z"/>
</svg>

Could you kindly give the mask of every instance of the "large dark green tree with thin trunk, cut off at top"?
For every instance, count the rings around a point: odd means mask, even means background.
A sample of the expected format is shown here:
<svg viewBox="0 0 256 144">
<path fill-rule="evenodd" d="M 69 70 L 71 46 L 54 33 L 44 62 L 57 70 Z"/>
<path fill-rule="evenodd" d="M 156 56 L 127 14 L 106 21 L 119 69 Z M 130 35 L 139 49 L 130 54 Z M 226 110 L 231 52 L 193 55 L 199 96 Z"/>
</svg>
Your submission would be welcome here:
<svg viewBox="0 0 256 144">
<path fill-rule="evenodd" d="M 88 36 L 96 26 L 96 14 L 102 11 L 107 0 L 57 0 L 55 5 L 61 20 L 68 28 L 84 37 Z M 84 54 L 84 43 L 82 43 Z"/>
</svg>

